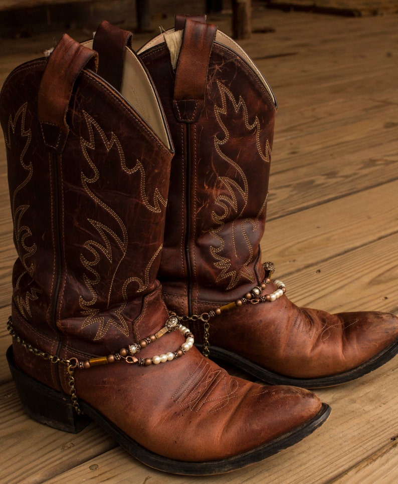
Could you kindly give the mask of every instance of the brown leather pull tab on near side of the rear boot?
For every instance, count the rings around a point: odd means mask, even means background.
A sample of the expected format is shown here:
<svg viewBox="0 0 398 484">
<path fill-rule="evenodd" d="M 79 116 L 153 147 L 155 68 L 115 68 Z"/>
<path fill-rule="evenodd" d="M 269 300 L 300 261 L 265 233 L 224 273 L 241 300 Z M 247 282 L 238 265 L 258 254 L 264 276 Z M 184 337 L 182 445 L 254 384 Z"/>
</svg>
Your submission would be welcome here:
<svg viewBox="0 0 398 484">
<path fill-rule="evenodd" d="M 178 121 L 194 123 L 205 104 L 209 59 L 217 26 L 185 21 L 178 56 L 173 96 L 174 115 Z"/>
</svg>

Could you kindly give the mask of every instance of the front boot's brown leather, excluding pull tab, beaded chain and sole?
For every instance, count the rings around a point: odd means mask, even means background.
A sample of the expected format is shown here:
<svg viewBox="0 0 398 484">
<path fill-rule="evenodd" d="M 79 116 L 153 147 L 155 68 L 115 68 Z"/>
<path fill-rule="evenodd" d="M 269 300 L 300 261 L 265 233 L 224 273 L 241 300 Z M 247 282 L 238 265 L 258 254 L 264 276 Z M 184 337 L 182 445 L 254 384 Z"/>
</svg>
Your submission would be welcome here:
<svg viewBox="0 0 398 484">
<path fill-rule="evenodd" d="M 37 117 L 46 65 L 40 59 L 17 68 L 0 98 L 18 252 L 13 323 L 20 337 L 51 355 L 104 356 L 158 331 L 168 317 L 156 274 L 172 154 L 81 65 L 64 149 L 49 149 Z M 166 334 L 139 356 L 176 351 L 183 342 L 179 331 Z M 14 352 L 28 375 L 69 393 L 63 365 L 16 342 Z M 230 377 L 195 348 L 150 367 L 76 369 L 75 380 L 80 400 L 147 449 L 180 460 L 253 449 L 321 408 L 306 390 Z"/>
</svg>

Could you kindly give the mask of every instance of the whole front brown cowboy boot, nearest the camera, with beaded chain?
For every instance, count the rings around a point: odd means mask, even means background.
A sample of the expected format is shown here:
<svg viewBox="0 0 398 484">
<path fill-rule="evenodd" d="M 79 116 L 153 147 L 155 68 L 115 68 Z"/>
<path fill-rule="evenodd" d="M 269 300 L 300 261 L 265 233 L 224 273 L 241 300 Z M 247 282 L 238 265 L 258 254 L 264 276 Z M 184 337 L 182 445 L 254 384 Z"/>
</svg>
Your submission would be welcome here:
<svg viewBox="0 0 398 484">
<path fill-rule="evenodd" d="M 230 377 L 169 315 L 156 274 L 172 144 L 145 69 L 124 45 L 118 55 L 120 93 L 68 36 L 3 87 L 10 368 L 40 422 L 76 432 L 92 419 L 160 470 L 229 471 L 308 435 L 329 407 Z"/>
</svg>

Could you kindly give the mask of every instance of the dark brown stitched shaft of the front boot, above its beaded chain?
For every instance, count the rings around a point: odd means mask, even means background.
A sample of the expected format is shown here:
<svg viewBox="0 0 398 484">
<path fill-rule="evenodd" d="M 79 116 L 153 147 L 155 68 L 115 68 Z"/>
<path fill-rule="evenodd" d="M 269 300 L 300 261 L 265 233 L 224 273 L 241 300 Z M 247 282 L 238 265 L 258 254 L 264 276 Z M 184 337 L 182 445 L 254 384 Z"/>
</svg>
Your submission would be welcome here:
<svg viewBox="0 0 398 484">
<path fill-rule="evenodd" d="M 13 319 L 28 341 L 35 334 L 52 347 L 62 337 L 92 354 L 131 343 L 132 322 L 158 287 L 172 148 L 149 79 L 126 56 L 130 84 L 152 92 L 145 99 L 157 134 L 128 94 L 95 73 L 94 51 L 67 36 L 4 84 Z"/>
</svg>

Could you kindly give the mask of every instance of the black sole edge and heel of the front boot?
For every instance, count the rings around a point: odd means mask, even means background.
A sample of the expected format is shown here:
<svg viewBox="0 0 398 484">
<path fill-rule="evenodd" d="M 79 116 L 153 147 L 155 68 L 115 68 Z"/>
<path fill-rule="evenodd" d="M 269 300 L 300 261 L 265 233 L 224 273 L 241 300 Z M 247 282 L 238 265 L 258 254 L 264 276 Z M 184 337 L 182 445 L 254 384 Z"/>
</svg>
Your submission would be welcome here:
<svg viewBox="0 0 398 484">
<path fill-rule="evenodd" d="M 12 346 L 7 351 L 7 360 L 22 406 L 32 418 L 50 427 L 72 433 L 78 433 L 91 421 L 94 421 L 137 460 L 149 467 L 172 474 L 221 474 L 259 462 L 310 435 L 326 421 L 331 411 L 330 407 L 323 403 L 319 413 L 311 420 L 271 442 L 232 457 L 203 462 L 180 461 L 147 450 L 95 408 L 81 400 L 79 405 L 84 414 L 78 415 L 69 395 L 53 390 L 18 368 L 14 362 Z"/>
</svg>

